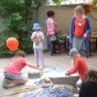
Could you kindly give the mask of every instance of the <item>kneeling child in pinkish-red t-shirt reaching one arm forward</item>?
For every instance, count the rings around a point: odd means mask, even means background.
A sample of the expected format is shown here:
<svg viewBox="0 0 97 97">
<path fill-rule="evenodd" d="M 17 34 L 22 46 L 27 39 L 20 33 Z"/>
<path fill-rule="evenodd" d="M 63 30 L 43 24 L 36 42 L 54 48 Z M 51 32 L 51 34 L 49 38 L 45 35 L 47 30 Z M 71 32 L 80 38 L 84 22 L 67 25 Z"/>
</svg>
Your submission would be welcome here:
<svg viewBox="0 0 97 97">
<path fill-rule="evenodd" d="M 9 84 L 25 84 L 28 78 L 23 76 L 21 71 L 26 65 L 42 71 L 41 67 L 36 67 L 35 65 L 32 65 L 30 62 L 28 62 L 24 56 L 25 53 L 23 51 L 17 51 L 11 62 L 4 67 L 4 78 L 2 83 L 3 88 L 7 89 Z"/>
</svg>

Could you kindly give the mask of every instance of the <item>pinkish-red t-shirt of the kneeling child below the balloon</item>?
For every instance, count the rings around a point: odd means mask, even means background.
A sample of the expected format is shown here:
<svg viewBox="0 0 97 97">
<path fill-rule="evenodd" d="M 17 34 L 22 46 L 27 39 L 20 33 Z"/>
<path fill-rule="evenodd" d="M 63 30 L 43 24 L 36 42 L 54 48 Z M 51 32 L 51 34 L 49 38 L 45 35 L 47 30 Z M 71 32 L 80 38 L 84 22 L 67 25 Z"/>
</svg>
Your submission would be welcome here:
<svg viewBox="0 0 97 97">
<path fill-rule="evenodd" d="M 4 67 L 4 72 L 20 75 L 21 69 L 25 66 L 24 57 L 13 57 L 11 62 Z"/>
</svg>

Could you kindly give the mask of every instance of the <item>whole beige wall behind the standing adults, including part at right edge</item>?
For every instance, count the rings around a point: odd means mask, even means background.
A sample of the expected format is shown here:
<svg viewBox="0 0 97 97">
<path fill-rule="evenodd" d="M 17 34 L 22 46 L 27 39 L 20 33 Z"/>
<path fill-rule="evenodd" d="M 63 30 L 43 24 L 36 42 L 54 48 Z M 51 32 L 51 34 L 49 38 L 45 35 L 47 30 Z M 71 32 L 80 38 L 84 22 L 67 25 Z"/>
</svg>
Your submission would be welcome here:
<svg viewBox="0 0 97 97">
<path fill-rule="evenodd" d="M 39 9 L 39 22 L 42 26 L 42 31 L 45 33 L 45 26 L 44 26 L 44 20 L 47 19 L 46 17 L 46 12 L 48 10 L 52 10 L 55 12 L 55 21 L 58 24 L 57 31 L 61 34 L 67 34 L 68 30 L 69 30 L 69 24 L 71 24 L 71 18 L 74 14 L 74 8 L 75 6 L 66 6 L 66 7 L 41 7 Z M 90 18 L 90 25 L 91 25 L 91 32 L 97 30 L 97 21 L 91 18 L 91 15 L 97 20 L 97 10 L 96 9 L 91 9 L 91 12 L 88 14 L 88 17 Z M 46 48 L 46 39 L 44 41 L 44 48 Z"/>
</svg>

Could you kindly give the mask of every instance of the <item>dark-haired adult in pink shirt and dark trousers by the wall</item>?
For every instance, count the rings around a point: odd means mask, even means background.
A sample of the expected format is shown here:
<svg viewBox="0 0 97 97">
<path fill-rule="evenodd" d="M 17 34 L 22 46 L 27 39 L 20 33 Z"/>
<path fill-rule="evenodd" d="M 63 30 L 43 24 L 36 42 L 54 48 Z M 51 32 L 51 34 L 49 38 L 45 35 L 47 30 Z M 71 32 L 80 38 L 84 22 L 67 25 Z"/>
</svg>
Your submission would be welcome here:
<svg viewBox="0 0 97 97">
<path fill-rule="evenodd" d="M 54 11 L 47 11 L 47 20 L 46 20 L 46 35 L 48 36 L 48 41 L 51 42 L 51 55 L 56 55 L 56 47 L 55 47 L 55 41 L 56 41 L 56 28 L 57 24 L 54 21 Z M 52 39 L 52 40 L 51 40 Z"/>
</svg>

